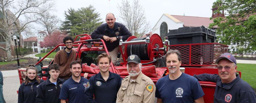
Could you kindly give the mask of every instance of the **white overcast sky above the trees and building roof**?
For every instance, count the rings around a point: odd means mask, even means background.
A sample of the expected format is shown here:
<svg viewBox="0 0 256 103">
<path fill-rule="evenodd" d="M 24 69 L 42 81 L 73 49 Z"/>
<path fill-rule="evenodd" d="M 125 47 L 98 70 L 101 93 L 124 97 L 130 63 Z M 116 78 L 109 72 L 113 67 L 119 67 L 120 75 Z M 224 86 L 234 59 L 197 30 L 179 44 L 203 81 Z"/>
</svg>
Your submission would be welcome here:
<svg viewBox="0 0 256 103">
<path fill-rule="evenodd" d="M 128 0 L 133 2 L 133 0 Z M 199 16 L 211 17 L 212 3 L 216 0 L 140 0 L 141 5 L 145 8 L 147 20 L 150 21 L 151 27 L 156 24 L 163 13 L 170 15 Z M 101 14 L 102 21 L 108 12 L 114 13 L 118 21 L 119 11 L 118 4 L 121 0 L 57 0 L 57 16 L 64 20 L 64 11 L 68 8 L 78 9 L 93 5 Z"/>
</svg>

